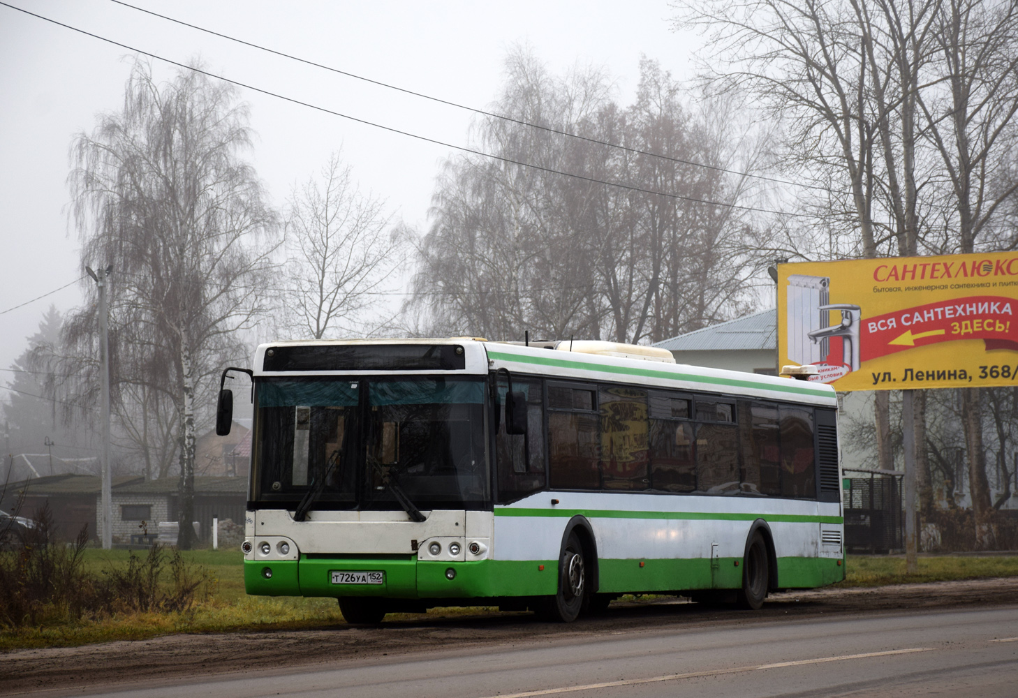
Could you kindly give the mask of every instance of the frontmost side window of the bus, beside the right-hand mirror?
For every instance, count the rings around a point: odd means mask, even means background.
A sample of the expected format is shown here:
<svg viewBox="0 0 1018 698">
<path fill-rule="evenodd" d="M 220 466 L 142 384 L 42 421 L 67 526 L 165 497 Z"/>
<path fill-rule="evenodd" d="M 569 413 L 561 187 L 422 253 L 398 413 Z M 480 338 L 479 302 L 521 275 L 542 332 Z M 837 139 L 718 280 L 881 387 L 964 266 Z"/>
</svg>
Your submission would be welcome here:
<svg viewBox="0 0 1018 698">
<path fill-rule="evenodd" d="M 499 386 L 499 429 L 495 434 L 499 503 L 515 502 L 545 488 L 544 396 L 540 381 L 513 380 L 513 390 L 526 395 L 526 433 L 507 434 L 506 386 Z"/>
</svg>

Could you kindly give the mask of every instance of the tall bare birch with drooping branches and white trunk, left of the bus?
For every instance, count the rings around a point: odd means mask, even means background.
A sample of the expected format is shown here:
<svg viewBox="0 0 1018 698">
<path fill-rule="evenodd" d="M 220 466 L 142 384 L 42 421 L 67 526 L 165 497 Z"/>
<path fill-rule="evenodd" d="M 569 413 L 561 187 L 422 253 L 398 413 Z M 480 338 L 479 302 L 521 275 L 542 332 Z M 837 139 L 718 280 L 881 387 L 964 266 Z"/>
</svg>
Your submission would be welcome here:
<svg viewBox="0 0 1018 698">
<path fill-rule="evenodd" d="M 159 82 L 137 61 L 122 110 L 100 115 L 70 151 L 82 263 L 114 270 L 114 380 L 165 396 L 176 413 L 178 545 L 185 549 L 193 542 L 194 441 L 210 412 L 213 376 L 240 353 L 235 333 L 265 310 L 274 244 L 263 240 L 275 216 L 239 158 L 249 144 L 247 110 L 234 88 L 188 70 Z M 86 354 L 94 346 L 92 315 L 94 307 L 86 308 L 65 333 Z M 152 403 L 142 400 L 140 412 L 150 413 Z"/>
</svg>

